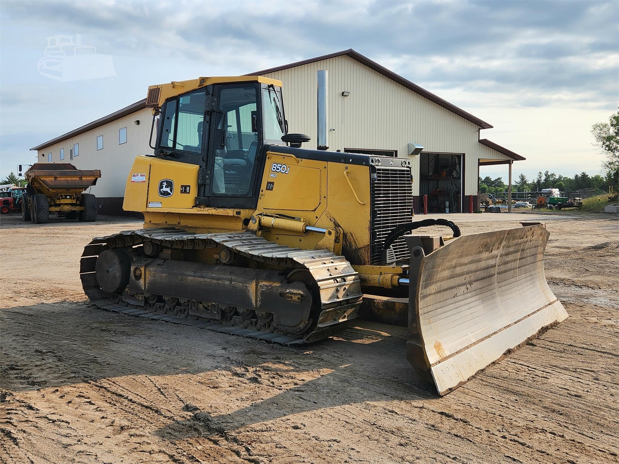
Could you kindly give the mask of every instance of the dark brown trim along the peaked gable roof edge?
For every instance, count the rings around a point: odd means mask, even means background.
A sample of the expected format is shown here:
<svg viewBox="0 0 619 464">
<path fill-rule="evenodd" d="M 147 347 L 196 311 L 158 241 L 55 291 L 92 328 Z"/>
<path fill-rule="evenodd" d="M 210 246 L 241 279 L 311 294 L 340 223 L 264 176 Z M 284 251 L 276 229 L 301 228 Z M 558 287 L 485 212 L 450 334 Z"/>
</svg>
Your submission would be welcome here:
<svg viewBox="0 0 619 464">
<path fill-rule="evenodd" d="M 268 74 L 269 72 L 282 71 L 284 69 L 290 69 L 291 67 L 302 66 L 303 64 L 309 64 L 309 63 L 313 63 L 316 61 L 322 61 L 323 59 L 335 58 L 337 56 L 342 56 L 342 55 L 350 56 L 350 58 L 357 60 L 361 64 L 365 64 L 365 66 L 373 69 L 376 72 L 379 72 L 380 74 L 383 74 L 384 76 L 388 77 L 394 82 L 397 82 L 400 85 L 404 85 L 404 87 L 409 88 L 415 93 L 418 93 L 422 97 L 425 97 L 430 101 L 433 101 L 434 103 L 436 103 L 436 105 L 443 106 L 443 108 L 446 108 L 452 113 L 455 113 L 458 116 L 461 116 L 461 118 L 464 118 L 467 121 L 477 124 L 477 126 L 481 127 L 482 129 L 491 129 L 491 127 L 493 127 L 491 126 L 491 124 L 488 124 L 488 122 L 482 121 L 482 119 L 476 118 L 472 114 L 467 113 L 467 111 L 464 111 L 461 108 L 458 108 L 456 105 L 452 105 L 452 103 L 449 103 L 449 101 L 443 100 L 443 98 L 438 97 L 434 93 L 428 92 L 427 90 L 425 90 L 425 88 L 419 87 L 417 84 L 413 84 L 408 79 L 404 79 L 404 77 L 402 77 L 401 75 L 396 74 L 393 71 L 389 71 L 389 69 L 387 69 L 386 67 L 381 66 L 380 64 L 378 64 L 375 61 L 372 61 L 370 58 L 367 58 L 366 56 L 363 56 L 361 53 L 358 53 L 352 48 L 349 48 L 347 50 L 337 51 L 335 53 L 330 53 L 327 55 L 317 56 L 316 58 L 309 58 L 309 59 L 304 59 L 303 61 L 297 61 L 294 63 L 285 64 L 284 66 L 271 67 L 269 69 L 263 69 L 262 71 L 251 72 L 250 74 L 246 74 L 246 75 Z"/>
</svg>

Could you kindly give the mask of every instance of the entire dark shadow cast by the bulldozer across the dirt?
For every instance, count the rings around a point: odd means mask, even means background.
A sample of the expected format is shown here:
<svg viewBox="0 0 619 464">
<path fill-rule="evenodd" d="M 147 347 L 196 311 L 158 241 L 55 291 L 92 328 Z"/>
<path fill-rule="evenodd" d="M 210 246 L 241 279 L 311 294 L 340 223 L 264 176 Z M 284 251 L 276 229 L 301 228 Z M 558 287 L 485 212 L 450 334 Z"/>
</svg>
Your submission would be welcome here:
<svg viewBox="0 0 619 464">
<path fill-rule="evenodd" d="M 390 329 L 396 333 L 386 332 Z M 403 330 L 362 321 L 336 338 L 293 348 L 103 311 L 85 301 L 17 306 L 0 309 L 0 388 L 32 391 L 113 377 L 208 374 L 286 361 L 287 372 L 331 371 L 228 415 L 197 413 L 158 431 L 161 436 L 174 431 L 176 438 L 202 434 L 205 424 L 228 430 L 350 403 L 436 398 L 405 358 Z M 157 356 L 153 346 L 170 346 L 170 352 Z M 311 355 L 304 355 L 308 350 Z M 192 354 L 183 358 L 183 351 Z M 48 375 L 28 378 L 30 366 L 41 364 L 50 367 Z"/>
</svg>

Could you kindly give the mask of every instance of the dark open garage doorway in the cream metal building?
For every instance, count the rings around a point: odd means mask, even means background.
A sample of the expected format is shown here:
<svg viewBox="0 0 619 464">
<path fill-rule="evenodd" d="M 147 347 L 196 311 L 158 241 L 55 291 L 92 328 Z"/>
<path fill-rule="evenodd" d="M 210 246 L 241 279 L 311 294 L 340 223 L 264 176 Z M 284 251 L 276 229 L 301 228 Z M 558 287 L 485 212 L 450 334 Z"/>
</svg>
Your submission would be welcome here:
<svg viewBox="0 0 619 464">
<path fill-rule="evenodd" d="M 422 201 L 428 195 L 428 213 L 461 213 L 462 155 L 422 152 L 419 156 L 419 194 Z"/>
</svg>

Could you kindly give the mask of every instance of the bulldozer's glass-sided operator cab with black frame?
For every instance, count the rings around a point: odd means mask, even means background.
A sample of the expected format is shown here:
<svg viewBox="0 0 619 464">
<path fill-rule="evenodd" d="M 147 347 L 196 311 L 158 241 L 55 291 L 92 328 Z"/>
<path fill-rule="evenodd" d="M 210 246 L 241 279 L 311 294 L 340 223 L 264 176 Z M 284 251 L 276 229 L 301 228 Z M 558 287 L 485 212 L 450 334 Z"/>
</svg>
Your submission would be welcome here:
<svg viewBox="0 0 619 464">
<path fill-rule="evenodd" d="M 239 199 L 254 204 L 266 146 L 286 145 L 280 83 L 203 79 L 206 85 L 160 105 L 155 157 L 200 166 L 197 204 L 224 207 L 231 205 L 227 198 L 238 207 L 246 203 Z"/>
</svg>

